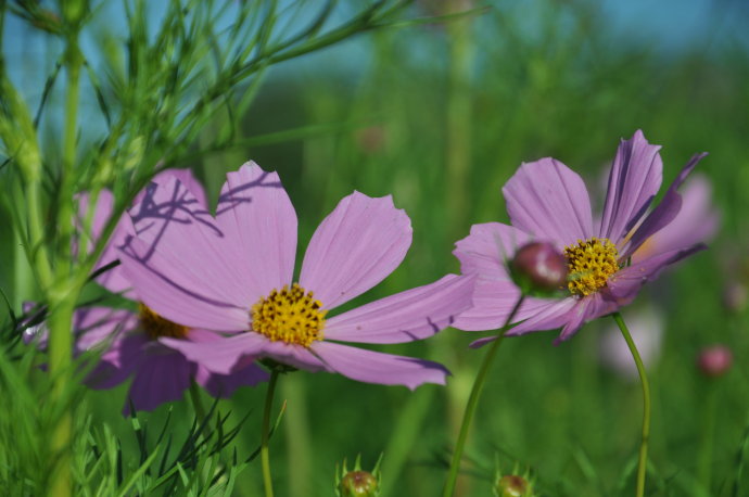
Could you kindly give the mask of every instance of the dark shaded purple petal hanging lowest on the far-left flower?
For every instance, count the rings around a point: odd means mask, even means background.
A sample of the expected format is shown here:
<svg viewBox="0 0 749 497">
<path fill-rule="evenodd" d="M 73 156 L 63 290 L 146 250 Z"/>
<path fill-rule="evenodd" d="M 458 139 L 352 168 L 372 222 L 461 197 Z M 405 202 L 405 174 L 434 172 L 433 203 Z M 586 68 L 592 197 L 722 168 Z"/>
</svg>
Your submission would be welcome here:
<svg viewBox="0 0 749 497">
<path fill-rule="evenodd" d="M 181 354 L 166 347 L 152 347 L 138 365 L 129 399 L 137 410 L 153 410 L 164 403 L 180 400 L 190 386 L 193 369 Z M 129 412 L 128 402 L 123 413 L 128 416 Z"/>
</svg>

